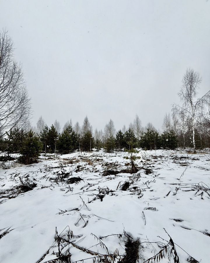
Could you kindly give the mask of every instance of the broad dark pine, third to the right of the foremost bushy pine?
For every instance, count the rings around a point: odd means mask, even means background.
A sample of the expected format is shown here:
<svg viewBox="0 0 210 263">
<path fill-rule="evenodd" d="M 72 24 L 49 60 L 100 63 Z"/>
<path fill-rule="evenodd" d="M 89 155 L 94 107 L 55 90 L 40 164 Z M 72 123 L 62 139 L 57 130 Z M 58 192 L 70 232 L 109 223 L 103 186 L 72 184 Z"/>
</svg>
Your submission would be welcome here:
<svg viewBox="0 0 210 263">
<path fill-rule="evenodd" d="M 77 135 L 72 129 L 71 125 L 68 125 L 66 129 L 60 134 L 57 142 L 58 150 L 61 153 L 70 153 L 77 148 Z"/>
</svg>

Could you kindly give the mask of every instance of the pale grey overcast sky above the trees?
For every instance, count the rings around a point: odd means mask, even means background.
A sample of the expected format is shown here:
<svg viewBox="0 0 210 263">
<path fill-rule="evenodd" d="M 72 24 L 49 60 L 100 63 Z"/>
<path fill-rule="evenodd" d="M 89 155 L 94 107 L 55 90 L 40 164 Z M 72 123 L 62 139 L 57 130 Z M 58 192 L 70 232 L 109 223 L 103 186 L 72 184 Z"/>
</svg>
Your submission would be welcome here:
<svg viewBox="0 0 210 263">
<path fill-rule="evenodd" d="M 95 129 L 113 119 L 161 128 L 186 68 L 210 89 L 210 1 L 0 0 L 34 110 Z"/>
</svg>

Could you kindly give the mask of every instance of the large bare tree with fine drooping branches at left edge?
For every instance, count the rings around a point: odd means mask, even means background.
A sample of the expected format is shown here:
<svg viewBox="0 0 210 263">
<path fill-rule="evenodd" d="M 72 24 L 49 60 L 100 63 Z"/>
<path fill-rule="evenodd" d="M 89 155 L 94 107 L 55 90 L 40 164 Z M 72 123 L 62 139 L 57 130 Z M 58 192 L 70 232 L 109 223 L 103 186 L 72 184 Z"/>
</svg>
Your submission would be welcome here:
<svg viewBox="0 0 210 263">
<path fill-rule="evenodd" d="M 13 41 L 6 30 L 0 32 L 0 134 L 24 127 L 31 113 L 22 65 L 13 57 Z"/>
</svg>

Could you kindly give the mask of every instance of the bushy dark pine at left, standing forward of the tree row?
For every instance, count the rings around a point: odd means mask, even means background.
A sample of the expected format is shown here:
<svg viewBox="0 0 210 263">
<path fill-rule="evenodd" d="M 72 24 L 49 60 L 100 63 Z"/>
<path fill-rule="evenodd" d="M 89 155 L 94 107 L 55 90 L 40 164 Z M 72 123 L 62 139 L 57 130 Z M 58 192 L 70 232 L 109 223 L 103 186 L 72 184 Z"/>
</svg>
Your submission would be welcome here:
<svg viewBox="0 0 210 263">
<path fill-rule="evenodd" d="M 24 164 L 31 164 L 37 162 L 39 151 L 41 150 L 41 142 L 38 136 L 34 134 L 33 131 L 29 131 L 23 141 L 20 153 L 20 162 Z"/>
</svg>

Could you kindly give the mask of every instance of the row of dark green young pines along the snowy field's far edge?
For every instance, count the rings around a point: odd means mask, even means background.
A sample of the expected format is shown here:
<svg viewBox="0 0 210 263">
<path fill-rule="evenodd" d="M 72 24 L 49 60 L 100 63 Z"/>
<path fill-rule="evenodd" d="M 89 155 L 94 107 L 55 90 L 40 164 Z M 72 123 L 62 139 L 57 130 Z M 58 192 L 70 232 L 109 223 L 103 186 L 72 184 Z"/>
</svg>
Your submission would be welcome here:
<svg viewBox="0 0 210 263">
<path fill-rule="evenodd" d="M 184 134 L 178 132 L 176 125 L 170 121 L 169 115 L 164 117 L 163 127 L 165 129 L 162 133 L 158 132 L 152 124 L 147 125 L 143 131 L 140 125 L 139 127 L 135 125 L 138 123 L 140 124 L 140 120 L 136 115 L 134 124 L 130 124 L 127 130 L 115 132 L 114 123 L 110 120 L 104 132 L 96 129 L 94 135 L 88 117 L 85 117 L 82 128 L 78 124 L 73 128 L 68 122 L 61 133 L 53 124 L 51 127 L 46 124 L 42 125 L 40 132 L 14 128 L 1 140 L 0 145 L 1 150 L 7 152 L 8 156 L 11 153 L 21 153 L 23 163 L 35 162 L 41 152 L 67 154 L 75 150 L 84 152 L 94 148 L 95 150 L 104 148 L 108 153 L 113 153 L 115 150 L 131 150 L 131 148 L 156 150 L 193 147 L 190 126 Z M 199 129 L 195 131 L 197 148 L 209 147 L 209 137 L 205 131 L 203 133 Z"/>
</svg>

